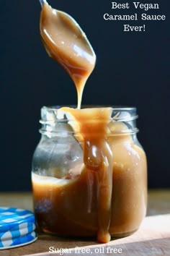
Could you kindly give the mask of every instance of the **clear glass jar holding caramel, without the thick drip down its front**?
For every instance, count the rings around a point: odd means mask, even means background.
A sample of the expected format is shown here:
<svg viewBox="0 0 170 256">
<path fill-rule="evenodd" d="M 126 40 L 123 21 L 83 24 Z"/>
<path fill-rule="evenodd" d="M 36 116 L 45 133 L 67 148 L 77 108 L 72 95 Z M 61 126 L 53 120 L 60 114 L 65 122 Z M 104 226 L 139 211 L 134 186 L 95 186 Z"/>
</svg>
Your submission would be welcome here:
<svg viewBox="0 0 170 256">
<path fill-rule="evenodd" d="M 107 127 L 106 140 L 113 155 L 108 229 L 113 237 L 132 234 L 146 215 L 147 164 L 136 136 L 137 118 L 136 108 L 112 108 Z M 37 224 L 58 236 L 96 236 L 99 183 L 96 174 L 82 171 L 80 135 L 66 115 L 58 117 L 57 107 L 43 107 L 40 123 L 42 137 L 32 161 Z"/>
</svg>

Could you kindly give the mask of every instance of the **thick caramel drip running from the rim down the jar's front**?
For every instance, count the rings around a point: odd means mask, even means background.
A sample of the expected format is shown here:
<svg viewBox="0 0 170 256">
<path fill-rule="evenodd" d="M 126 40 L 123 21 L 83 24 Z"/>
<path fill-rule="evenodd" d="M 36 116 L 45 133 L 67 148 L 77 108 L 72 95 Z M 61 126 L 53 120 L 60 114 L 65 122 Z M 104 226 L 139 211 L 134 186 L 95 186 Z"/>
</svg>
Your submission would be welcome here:
<svg viewBox="0 0 170 256">
<path fill-rule="evenodd" d="M 80 133 L 84 145 L 84 168 L 89 179 L 97 179 L 98 242 L 109 242 L 111 218 L 113 155 L 107 142 L 108 124 L 112 108 L 61 108 L 74 121 L 70 124 L 74 132 Z M 70 116 L 71 115 L 71 116 Z M 82 141 L 81 141 L 82 142 Z M 83 171 L 83 170 L 82 170 Z M 93 189 L 89 181 L 89 200 Z"/>
</svg>

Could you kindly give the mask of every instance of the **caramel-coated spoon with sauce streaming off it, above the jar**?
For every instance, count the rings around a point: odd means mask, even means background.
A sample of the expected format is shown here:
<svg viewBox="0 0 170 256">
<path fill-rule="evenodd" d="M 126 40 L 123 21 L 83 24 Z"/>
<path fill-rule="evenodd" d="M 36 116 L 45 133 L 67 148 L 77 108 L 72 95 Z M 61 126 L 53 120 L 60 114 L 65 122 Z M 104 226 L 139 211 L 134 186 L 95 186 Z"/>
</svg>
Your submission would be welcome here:
<svg viewBox="0 0 170 256">
<path fill-rule="evenodd" d="M 58 61 L 76 85 L 78 108 L 84 85 L 94 69 L 96 55 L 81 27 L 66 12 L 50 7 L 40 0 L 40 34 L 48 55 Z"/>
</svg>

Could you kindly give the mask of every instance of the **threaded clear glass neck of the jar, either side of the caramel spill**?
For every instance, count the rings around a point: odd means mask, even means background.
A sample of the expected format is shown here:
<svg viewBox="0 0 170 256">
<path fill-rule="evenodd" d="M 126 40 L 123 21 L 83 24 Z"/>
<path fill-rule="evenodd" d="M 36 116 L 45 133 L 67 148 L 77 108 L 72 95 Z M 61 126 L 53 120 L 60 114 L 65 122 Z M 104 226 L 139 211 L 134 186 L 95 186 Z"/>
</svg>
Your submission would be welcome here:
<svg viewBox="0 0 170 256">
<path fill-rule="evenodd" d="M 71 106 L 71 108 L 75 108 Z M 91 111 L 94 108 L 98 107 L 86 107 L 88 111 Z M 102 107 L 99 106 L 99 108 Z M 127 134 L 135 134 L 138 132 L 136 128 L 136 119 L 138 115 L 136 114 L 136 108 L 133 107 L 111 107 L 110 116 L 108 119 L 108 129 L 109 135 L 127 135 Z M 85 108 L 82 108 L 79 111 L 85 111 Z M 94 119 L 82 119 L 81 123 L 84 125 L 91 124 L 95 121 Z M 102 122 L 102 119 L 98 119 L 98 122 Z M 40 124 L 42 124 L 42 128 L 40 129 L 40 133 L 48 135 L 52 137 L 52 134 L 60 133 L 61 136 L 66 136 L 68 133 L 77 133 L 76 129 L 76 120 L 73 119 L 72 116 L 68 115 L 61 111 L 61 107 L 53 106 L 53 107 L 46 107 L 43 106 L 41 108 L 41 120 Z M 122 124 L 122 125 L 120 125 Z"/>
</svg>

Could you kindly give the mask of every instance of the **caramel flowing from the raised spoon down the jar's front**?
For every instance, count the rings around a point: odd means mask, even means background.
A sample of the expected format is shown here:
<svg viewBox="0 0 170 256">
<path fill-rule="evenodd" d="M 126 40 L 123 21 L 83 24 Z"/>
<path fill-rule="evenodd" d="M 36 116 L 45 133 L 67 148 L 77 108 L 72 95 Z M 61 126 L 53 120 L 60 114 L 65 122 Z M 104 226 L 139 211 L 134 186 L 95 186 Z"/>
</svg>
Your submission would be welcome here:
<svg viewBox="0 0 170 256">
<path fill-rule="evenodd" d="M 97 239 L 99 242 L 109 242 L 113 157 L 106 137 L 112 109 L 79 110 L 84 85 L 94 69 L 96 56 L 76 21 L 65 12 L 53 9 L 47 3 L 42 5 L 40 33 L 49 56 L 66 69 L 76 85 L 78 109 L 62 108 L 62 111 L 73 116 L 76 123 L 76 127 L 73 126 L 74 132 L 79 132 L 83 138 L 84 168 L 89 171 L 89 179 L 93 176 L 98 184 Z M 89 198 L 90 194 L 89 184 Z"/>
</svg>

